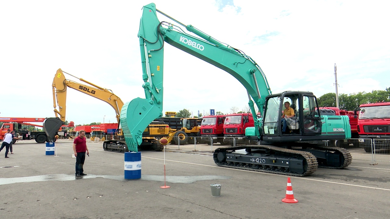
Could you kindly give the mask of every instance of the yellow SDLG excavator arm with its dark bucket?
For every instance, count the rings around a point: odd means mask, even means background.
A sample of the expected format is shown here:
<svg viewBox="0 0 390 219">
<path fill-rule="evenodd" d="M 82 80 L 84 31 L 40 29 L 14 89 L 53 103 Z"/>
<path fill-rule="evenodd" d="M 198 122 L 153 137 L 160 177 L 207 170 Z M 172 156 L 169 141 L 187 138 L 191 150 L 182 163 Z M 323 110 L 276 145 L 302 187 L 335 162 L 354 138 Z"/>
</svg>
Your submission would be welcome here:
<svg viewBox="0 0 390 219">
<path fill-rule="evenodd" d="M 58 69 L 54 76 L 53 84 L 51 85 L 51 87 L 53 88 L 53 107 L 56 118 L 46 118 L 43 122 L 43 129 L 46 132 L 46 135 L 48 136 L 49 140 L 52 140 L 54 138 L 55 133 L 65 122 L 66 93 L 68 87 L 110 104 L 110 106 L 112 106 L 112 108 L 114 108 L 115 110 L 117 121 L 119 124 L 119 116 L 123 106 L 121 98 L 113 94 L 112 90 L 99 87 L 82 78 L 78 79 L 89 85 L 92 85 L 93 87 L 68 80 L 65 78 L 64 73 L 66 72 L 62 71 L 61 69 Z"/>
</svg>

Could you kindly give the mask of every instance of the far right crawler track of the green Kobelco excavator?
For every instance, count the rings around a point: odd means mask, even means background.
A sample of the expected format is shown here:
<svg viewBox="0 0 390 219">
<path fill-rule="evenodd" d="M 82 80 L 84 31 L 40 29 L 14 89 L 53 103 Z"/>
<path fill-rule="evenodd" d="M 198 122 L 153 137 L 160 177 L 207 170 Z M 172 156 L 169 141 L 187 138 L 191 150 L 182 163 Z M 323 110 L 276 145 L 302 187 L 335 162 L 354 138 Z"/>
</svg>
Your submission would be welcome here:
<svg viewBox="0 0 390 219">
<path fill-rule="evenodd" d="M 293 147 L 294 150 L 307 151 L 316 155 L 318 167 L 320 168 L 342 169 L 346 168 L 352 162 L 352 155 L 345 148 L 322 146 L 312 143 L 298 143 L 295 146 L 299 148 Z"/>
</svg>

